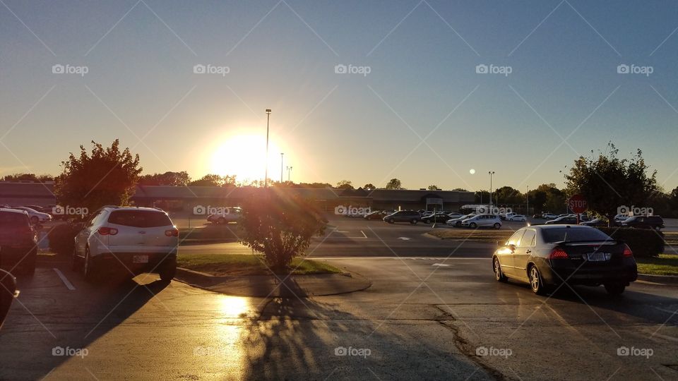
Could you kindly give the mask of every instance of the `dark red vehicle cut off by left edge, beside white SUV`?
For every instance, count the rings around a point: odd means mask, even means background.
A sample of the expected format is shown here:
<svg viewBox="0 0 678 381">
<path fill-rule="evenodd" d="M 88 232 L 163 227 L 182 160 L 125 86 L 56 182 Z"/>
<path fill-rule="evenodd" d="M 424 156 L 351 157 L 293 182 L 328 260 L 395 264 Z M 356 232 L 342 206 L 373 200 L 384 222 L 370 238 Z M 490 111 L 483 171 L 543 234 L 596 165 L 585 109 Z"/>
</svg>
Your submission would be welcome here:
<svg viewBox="0 0 678 381">
<path fill-rule="evenodd" d="M 24 210 L 0 209 L 0 266 L 31 276 L 37 259 L 37 236 Z"/>
</svg>

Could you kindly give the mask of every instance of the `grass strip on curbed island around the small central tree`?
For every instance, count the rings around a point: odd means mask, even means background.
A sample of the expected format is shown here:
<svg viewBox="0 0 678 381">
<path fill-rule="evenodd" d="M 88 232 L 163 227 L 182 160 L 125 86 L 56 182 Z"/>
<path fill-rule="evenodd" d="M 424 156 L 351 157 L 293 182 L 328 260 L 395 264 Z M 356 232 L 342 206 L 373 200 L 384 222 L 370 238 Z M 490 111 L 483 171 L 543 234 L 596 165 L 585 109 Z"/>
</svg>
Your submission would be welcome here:
<svg viewBox="0 0 678 381">
<path fill-rule="evenodd" d="M 206 272 L 217 276 L 246 276 L 273 274 L 262 255 L 241 254 L 179 254 L 177 265 L 185 269 Z M 295 258 L 292 260 L 292 274 L 338 274 L 342 270 L 326 262 Z"/>
</svg>

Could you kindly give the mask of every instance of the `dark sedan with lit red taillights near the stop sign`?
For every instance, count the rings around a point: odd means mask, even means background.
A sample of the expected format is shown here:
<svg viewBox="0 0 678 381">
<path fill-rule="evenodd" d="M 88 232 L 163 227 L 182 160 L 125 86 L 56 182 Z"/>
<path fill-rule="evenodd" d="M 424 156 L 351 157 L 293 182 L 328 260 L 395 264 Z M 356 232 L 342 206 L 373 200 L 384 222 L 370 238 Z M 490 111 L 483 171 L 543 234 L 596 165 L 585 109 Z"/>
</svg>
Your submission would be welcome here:
<svg viewBox="0 0 678 381">
<path fill-rule="evenodd" d="M 629 246 L 590 226 L 536 225 L 519 229 L 492 256 L 494 278 L 530 284 L 535 294 L 554 286 L 605 286 L 622 294 L 638 277 Z"/>
</svg>

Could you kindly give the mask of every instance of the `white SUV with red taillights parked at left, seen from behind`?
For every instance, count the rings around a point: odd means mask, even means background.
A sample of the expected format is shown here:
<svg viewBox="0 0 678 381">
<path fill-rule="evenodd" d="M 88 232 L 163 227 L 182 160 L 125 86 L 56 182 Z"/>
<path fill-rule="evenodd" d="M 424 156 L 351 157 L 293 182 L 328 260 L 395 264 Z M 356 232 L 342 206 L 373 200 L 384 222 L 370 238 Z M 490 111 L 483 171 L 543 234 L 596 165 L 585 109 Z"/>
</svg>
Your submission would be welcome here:
<svg viewBox="0 0 678 381">
<path fill-rule="evenodd" d="M 151 207 L 106 206 L 76 235 L 71 267 L 93 281 L 117 265 L 133 274 L 156 272 L 169 281 L 177 271 L 177 229 L 166 212 Z"/>
</svg>

